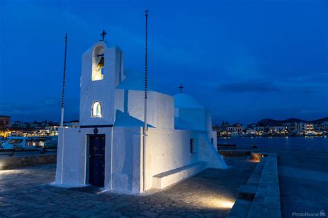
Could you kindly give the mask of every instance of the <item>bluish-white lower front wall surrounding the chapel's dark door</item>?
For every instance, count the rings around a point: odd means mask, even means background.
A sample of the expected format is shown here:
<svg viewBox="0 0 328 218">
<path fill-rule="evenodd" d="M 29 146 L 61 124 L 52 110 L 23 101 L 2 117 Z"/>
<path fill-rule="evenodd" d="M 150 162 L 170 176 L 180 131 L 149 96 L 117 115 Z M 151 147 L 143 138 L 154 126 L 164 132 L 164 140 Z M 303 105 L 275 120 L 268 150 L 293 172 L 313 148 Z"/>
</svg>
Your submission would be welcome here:
<svg viewBox="0 0 328 218">
<path fill-rule="evenodd" d="M 56 184 L 82 186 L 89 183 L 89 142 L 93 128 L 60 129 L 57 148 Z M 110 188 L 111 178 L 111 127 L 98 128 L 98 134 L 105 139 L 104 186 Z M 64 144 L 64 147 L 63 147 Z M 62 151 L 64 150 L 64 154 Z M 62 158 L 64 157 L 64 158 Z M 62 160 L 64 162 L 62 163 Z M 62 166 L 63 164 L 63 166 Z M 63 173 L 62 173 L 63 167 Z"/>
</svg>

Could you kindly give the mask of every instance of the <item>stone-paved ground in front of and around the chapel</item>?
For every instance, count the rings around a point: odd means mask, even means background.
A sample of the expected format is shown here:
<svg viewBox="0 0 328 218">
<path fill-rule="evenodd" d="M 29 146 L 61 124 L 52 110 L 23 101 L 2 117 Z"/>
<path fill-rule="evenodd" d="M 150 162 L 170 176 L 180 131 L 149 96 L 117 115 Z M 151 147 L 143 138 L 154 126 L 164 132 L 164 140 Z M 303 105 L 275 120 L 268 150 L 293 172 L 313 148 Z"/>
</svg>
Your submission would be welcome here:
<svg viewBox="0 0 328 218">
<path fill-rule="evenodd" d="M 226 217 L 256 165 L 244 158 L 226 161 L 228 170 L 208 169 L 147 196 L 48 185 L 55 165 L 0 171 L 0 217 Z"/>
</svg>

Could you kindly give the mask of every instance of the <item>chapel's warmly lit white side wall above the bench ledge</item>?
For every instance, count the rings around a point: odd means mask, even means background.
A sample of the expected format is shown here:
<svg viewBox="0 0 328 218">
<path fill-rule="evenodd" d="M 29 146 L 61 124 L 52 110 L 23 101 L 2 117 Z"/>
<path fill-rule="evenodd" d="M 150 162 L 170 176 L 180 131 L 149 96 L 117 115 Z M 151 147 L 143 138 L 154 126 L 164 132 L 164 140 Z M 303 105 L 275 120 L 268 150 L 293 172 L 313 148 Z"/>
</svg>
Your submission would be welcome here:
<svg viewBox="0 0 328 218">
<path fill-rule="evenodd" d="M 193 153 L 190 153 L 190 138 L 194 139 Z M 226 168 L 223 157 L 217 153 L 215 131 L 149 128 L 145 149 L 146 190 L 152 188 L 152 176 L 199 161 L 205 161 L 207 167 Z"/>
</svg>

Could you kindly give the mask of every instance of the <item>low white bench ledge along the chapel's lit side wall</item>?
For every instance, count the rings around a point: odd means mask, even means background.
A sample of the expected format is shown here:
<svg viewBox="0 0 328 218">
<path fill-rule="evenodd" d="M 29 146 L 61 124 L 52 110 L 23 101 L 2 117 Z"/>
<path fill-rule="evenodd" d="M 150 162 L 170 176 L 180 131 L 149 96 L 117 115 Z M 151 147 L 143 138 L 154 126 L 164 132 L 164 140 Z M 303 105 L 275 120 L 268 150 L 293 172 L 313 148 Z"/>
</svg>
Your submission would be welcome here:
<svg viewBox="0 0 328 218">
<path fill-rule="evenodd" d="M 153 176 L 153 188 L 162 189 L 170 186 L 177 181 L 187 179 L 190 176 L 206 169 L 206 162 L 192 163 L 184 167 L 180 167 L 174 170 L 163 172 Z"/>
</svg>

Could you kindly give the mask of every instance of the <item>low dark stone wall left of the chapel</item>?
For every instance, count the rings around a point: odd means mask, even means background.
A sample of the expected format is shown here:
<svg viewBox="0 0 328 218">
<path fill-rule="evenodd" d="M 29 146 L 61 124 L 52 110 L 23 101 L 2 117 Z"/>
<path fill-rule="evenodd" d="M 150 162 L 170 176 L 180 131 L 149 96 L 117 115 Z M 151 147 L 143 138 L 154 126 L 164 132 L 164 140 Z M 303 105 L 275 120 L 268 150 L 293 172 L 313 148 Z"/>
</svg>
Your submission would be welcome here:
<svg viewBox="0 0 328 218">
<path fill-rule="evenodd" d="M 12 170 L 18 167 L 56 163 L 57 154 L 42 154 L 31 156 L 11 156 L 0 158 L 0 170 Z"/>
</svg>

